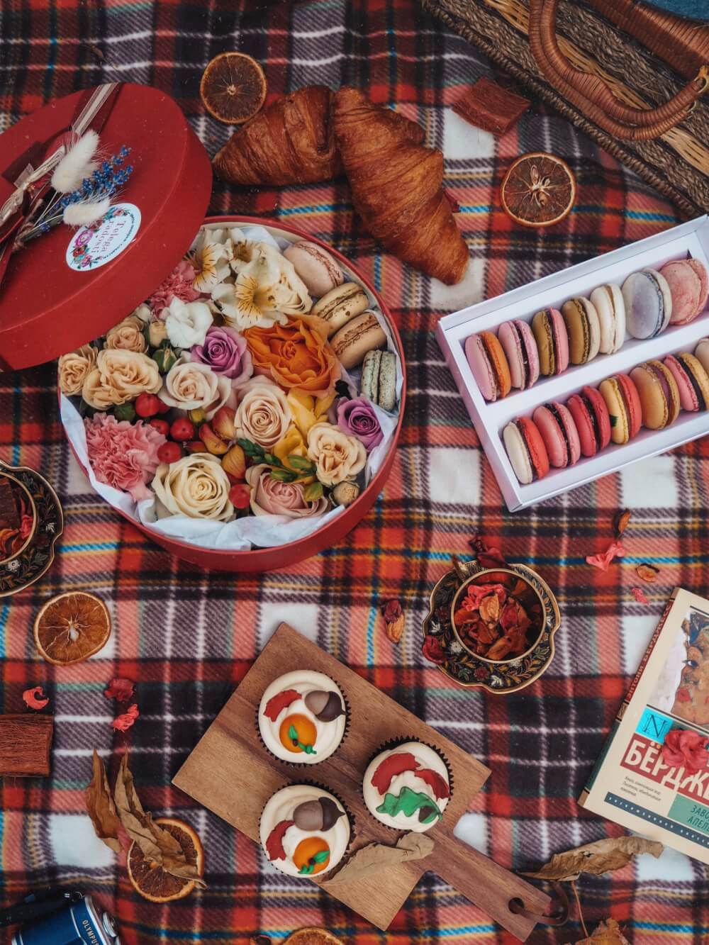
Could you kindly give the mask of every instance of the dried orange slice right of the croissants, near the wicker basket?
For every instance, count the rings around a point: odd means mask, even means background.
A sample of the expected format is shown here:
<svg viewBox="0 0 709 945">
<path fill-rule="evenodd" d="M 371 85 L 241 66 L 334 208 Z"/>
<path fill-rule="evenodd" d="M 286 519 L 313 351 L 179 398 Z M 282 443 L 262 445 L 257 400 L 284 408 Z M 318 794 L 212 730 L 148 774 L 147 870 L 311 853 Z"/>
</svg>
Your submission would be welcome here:
<svg viewBox="0 0 709 945">
<path fill-rule="evenodd" d="M 500 187 L 502 208 L 524 227 L 550 227 L 569 215 L 576 200 L 576 179 L 554 154 L 523 154 L 511 165 Z"/>
</svg>

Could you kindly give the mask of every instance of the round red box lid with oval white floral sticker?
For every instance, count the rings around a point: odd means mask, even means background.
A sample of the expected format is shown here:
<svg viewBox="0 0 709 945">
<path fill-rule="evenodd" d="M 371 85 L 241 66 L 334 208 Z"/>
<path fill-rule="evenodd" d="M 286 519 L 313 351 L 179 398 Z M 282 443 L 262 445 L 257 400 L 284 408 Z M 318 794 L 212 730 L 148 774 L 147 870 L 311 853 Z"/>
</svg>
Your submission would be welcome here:
<svg viewBox="0 0 709 945">
<path fill-rule="evenodd" d="M 0 175 L 27 146 L 67 127 L 82 94 L 6 131 Z M 132 148 L 130 179 L 100 232 L 60 224 L 12 255 L 0 283 L 0 369 L 42 364 L 103 335 L 164 280 L 204 219 L 212 165 L 169 95 L 123 84 L 99 138 L 107 156 Z"/>
</svg>

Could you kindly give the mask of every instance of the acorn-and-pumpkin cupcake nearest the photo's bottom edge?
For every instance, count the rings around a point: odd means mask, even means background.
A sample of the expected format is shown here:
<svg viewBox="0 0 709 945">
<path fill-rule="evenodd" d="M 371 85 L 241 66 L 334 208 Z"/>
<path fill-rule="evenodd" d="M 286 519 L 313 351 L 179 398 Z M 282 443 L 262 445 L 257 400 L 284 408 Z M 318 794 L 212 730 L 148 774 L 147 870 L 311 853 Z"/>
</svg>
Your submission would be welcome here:
<svg viewBox="0 0 709 945">
<path fill-rule="evenodd" d="M 268 860 L 288 876 L 317 876 L 337 867 L 350 845 L 350 819 L 328 791 L 289 784 L 268 800 L 259 825 Z"/>
</svg>

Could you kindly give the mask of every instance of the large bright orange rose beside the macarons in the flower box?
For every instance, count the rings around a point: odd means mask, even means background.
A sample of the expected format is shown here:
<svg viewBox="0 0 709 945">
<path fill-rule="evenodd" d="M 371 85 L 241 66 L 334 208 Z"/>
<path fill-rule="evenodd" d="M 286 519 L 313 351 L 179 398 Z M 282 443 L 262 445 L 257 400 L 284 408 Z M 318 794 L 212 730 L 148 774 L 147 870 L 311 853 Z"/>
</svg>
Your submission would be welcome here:
<svg viewBox="0 0 709 945">
<path fill-rule="evenodd" d="M 244 332 L 253 369 L 286 389 L 326 397 L 339 380 L 339 361 L 327 341 L 327 322 L 315 316 L 288 318 L 285 325 Z"/>
</svg>

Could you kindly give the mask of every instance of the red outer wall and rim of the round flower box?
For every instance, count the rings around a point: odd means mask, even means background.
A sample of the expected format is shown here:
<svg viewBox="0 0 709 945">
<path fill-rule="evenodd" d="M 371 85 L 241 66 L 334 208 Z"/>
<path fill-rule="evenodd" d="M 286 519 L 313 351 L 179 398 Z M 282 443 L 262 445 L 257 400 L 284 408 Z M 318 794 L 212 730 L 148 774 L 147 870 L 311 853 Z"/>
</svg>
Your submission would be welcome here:
<svg viewBox="0 0 709 945">
<path fill-rule="evenodd" d="M 299 561 L 303 561 L 305 558 L 311 558 L 313 555 L 318 555 L 320 551 L 331 548 L 333 545 L 337 544 L 338 541 L 341 541 L 345 535 L 352 531 L 355 525 L 365 517 L 372 508 L 376 497 L 381 490 L 384 489 L 384 485 L 389 478 L 389 472 L 391 472 L 391 466 L 394 462 L 394 455 L 396 455 L 396 447 L 404 422 L 404 409 L 406 405 L 406 362 L 404 349 L 401 336 L 391 318 L 391 313 L 372 286 L 372 283 L 365 279 L 345 256 L 337 252 L 337 249 L 333 249 L 310 233 L 296 230 L 293 227 L 285 226 L 278 220 L 265 217 L 209 216 L 204 222 L 221 226 L 263 226 L 268 228 L 268 231 L 271 232 L 273 236 L 282 237 L 290 242 L 307 239 L 312 243 L 319 244 L 323 249 L 327 249 L 327 251 L 337 259 L 340 266 L 349 269 L 356 280 L 362 283 L 376 300 L 380 311 L 389 322 L 389 329 L 399 353 L 402 373 L 404 375 L 404 384 L 399 405 L 399 421 L 396 425 L 396 430 L 394 431 L 386 459 L 372 476 L 372 481 L 369 486 L 362 491 L 361 495 L 351 506 L 343 509 L 331 522 L 323 525 L 322 528 L 312 535 L 308 535 L 306 538 L 300 539 L 299 541 L 291 541 L 289 544 L 278 545 L 275 548 L 258 548 L 252 551 L 225 551 L 216 548 L 199 548 L 193 544 L 188 544 L 186 541 L 178 541 L 168 536 L 161 535 L 153 529 L 148 528 L 146 525 L 136 522 L 135 519 L 121 511 L 121 509 L 115 509 L 115 511 L 127 519 L 130 524 L 135 525 L 139 531 L 144 532 L 150 541 L 155 541 L 166 551 L 175 555 L 176 558 L 182 558 L 192 564 L 199 565 L 199 567 L 216 571 L 235 572 L 275 571 L 280 568 L 288 567 L 291 564 L 297 564 Z M 126 314 L 128 315 L 129 313 Z M 72 452 L 74 452 L 73 447 Z M 76 452 L 74 452 L 74 455 L 76 456 Z M 76 457 L 78 461 L 78 456 Z M 80 462 L 79 466 L 81 466 L 81 469 L 88 477 L 86 469 L 84 469 Z"/>
</svg>

